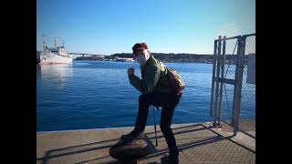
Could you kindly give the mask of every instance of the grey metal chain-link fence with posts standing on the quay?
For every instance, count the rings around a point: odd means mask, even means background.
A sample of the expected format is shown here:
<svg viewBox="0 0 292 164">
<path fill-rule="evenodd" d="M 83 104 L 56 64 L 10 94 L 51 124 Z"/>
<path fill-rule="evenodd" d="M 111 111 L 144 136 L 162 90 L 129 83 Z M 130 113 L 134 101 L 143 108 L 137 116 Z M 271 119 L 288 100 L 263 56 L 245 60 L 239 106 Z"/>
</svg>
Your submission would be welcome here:
<svg viewBox="0 0 292 164">
<path fill-rule="evenodd" d="M 255 82 L 246 81 L 252 56 L 255 34 L 214 40 L 210 116 L 216 127 L 224 123 L 255 138 Z"/>
</svg>

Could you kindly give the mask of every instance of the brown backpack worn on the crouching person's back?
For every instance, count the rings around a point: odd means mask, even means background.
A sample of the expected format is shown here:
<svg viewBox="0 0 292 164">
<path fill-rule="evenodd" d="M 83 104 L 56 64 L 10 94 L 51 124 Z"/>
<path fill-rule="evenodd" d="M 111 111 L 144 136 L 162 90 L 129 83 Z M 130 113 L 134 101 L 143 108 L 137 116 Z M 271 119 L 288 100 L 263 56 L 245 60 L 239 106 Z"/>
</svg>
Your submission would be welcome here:
<svg viewBox="0 0 292 164">
<path fill-rule="evenodd" d="M 183 77 L 172 68 L 167 68 L 167 76 L 171 81 L 172 88 L 175 90 L 175 93 L 182 93 L 185 87 Z"/>
</svg>

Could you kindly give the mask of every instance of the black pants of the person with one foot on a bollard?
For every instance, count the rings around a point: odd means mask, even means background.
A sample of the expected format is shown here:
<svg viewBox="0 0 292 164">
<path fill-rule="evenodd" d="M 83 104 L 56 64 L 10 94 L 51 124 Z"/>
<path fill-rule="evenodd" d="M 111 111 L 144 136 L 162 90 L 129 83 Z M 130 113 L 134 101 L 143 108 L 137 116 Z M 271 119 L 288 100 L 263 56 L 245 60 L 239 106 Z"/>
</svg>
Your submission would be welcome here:
<svg viewBox="0 0 292 164">
<path fill-rule="evenodd" d="M 139 97 L 139 112 L 136 118 L 135 128 L 130 132 L 132 135 L 141 134 L 146 126 L 150 105 L 156 107 L 162 107 L 162 117 L 160 127 L 162 129 L 163 136 L 167 142 L 171 156 L 178 156 L 179 151 L 176 146 L 175 138 L 172 133 L 172 116 L 174 109 L 181 100 L 181 95 L 160 94 L 151 93 L 147 95 L 141 95 Z"/>
</svg>

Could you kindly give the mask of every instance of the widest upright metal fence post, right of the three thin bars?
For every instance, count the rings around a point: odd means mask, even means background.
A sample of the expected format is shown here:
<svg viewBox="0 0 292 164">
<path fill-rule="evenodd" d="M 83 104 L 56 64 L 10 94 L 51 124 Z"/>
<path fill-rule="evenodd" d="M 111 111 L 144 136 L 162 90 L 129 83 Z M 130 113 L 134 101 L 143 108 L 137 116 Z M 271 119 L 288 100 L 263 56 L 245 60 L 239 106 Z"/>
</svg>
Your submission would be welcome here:
<svg viewBox="0 0 292 164">
<path fill-rule="evenodd" d="M 244 73 L 245 62 L 245 36 L 238 39 L 237 60 L 235 70 L 235 92 L 234 92 L 234 108 L 233 108 L 233 125 L 234 135 L 236 135 L 239 126 L 240 103 L 241 103 L 241 90 Z"/>
</svg>

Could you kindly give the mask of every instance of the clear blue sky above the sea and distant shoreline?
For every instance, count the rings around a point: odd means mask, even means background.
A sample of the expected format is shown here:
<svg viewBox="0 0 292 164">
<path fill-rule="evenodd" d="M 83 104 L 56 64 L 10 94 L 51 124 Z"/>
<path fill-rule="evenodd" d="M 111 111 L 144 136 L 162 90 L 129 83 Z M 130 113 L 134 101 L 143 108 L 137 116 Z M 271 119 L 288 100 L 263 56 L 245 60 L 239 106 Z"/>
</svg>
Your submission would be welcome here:
<svg viewBox="0 0 292 164">
<path fill-rule="evenodd" d="M 213 54 L 214 39 L 255 33 L 255 0 L 36 0 L 36 49 L 65 40 L 69 52 Z"/>
</svg>

